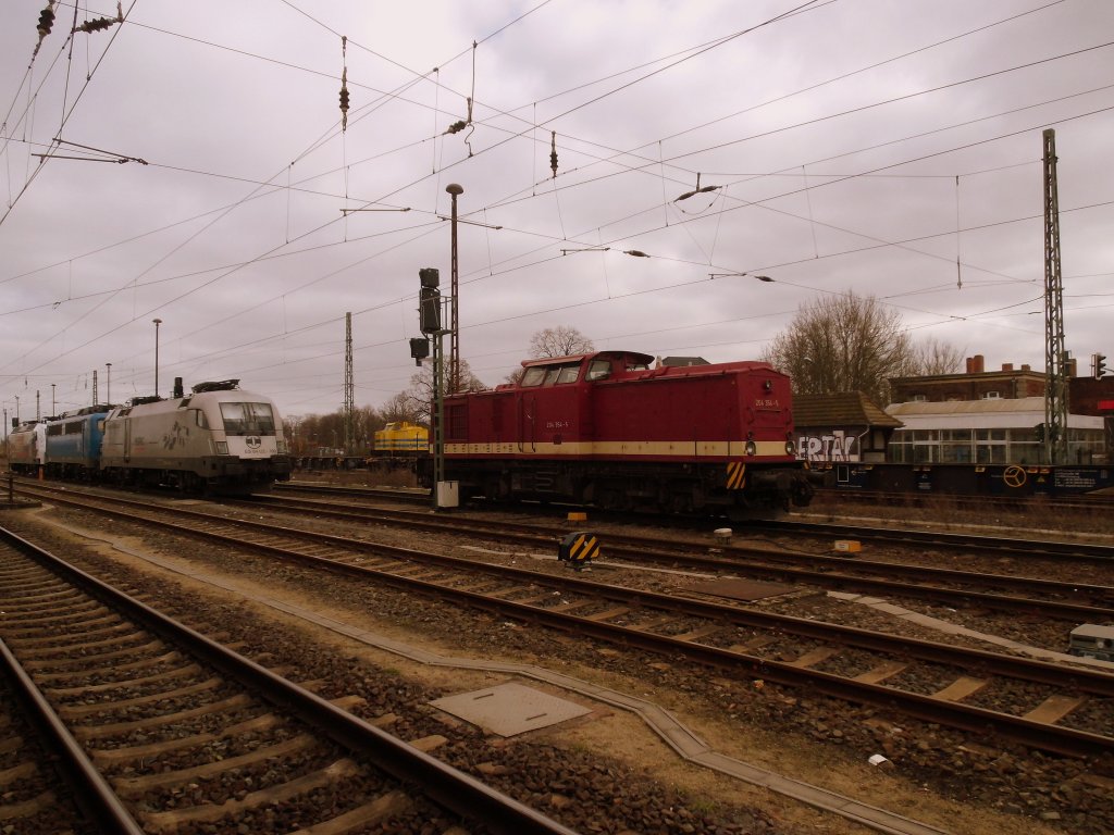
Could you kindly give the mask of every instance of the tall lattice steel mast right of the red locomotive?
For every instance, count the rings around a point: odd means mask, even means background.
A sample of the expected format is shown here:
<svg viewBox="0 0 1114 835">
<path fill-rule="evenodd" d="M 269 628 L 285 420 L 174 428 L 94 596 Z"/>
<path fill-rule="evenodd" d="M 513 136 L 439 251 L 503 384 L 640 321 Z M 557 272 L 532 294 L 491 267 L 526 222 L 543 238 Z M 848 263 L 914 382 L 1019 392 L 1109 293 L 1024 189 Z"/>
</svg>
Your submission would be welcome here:
<svg viewBox="0 0 1114 835">
<path fill-rule="evenodd" d="M 1045 190 L 1045 455 L 1067 463 L 1067 351 L 1064 348 L 1064 285 L 1059 272 L 1059 198 L 1056 131 L 1044 131 Z"/>
</svg>

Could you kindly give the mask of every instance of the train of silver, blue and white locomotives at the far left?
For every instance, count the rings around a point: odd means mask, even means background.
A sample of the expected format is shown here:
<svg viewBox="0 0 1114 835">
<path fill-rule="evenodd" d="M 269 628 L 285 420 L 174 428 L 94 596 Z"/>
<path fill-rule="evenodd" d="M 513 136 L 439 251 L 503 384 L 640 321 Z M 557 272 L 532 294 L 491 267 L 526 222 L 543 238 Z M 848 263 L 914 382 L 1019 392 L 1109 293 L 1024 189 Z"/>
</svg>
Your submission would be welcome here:
<svg viewBox="0 0 1114 835">
<path fill-rule="evenodd" d="M 188 395 L 179 383 L 166 400 L 94 406 L 25 424 L 17 435 L 11 468 L 27 474 L 41 468 L 51 478 L 234 493 L 290 479 L 278 410 L 235 380 L 201 383 Z"/>
</svg>

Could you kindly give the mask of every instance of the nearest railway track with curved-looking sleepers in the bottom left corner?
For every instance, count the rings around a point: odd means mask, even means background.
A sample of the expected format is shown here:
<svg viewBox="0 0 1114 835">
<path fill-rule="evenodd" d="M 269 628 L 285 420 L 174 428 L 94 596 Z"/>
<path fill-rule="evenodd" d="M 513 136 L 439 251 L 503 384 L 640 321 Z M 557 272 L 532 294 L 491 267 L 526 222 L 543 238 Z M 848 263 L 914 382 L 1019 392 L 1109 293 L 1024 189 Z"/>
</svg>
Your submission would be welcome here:
<svg viewBox="0 0 1114 835">
<path fill-rule="evenodd" d="M 4 679 L 101 832 L 571 833 L 3 529 L 0 578 Z"/>
</svg>

